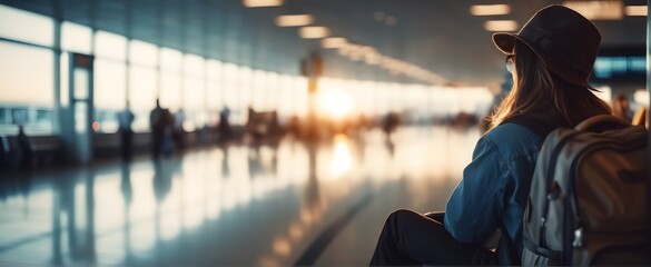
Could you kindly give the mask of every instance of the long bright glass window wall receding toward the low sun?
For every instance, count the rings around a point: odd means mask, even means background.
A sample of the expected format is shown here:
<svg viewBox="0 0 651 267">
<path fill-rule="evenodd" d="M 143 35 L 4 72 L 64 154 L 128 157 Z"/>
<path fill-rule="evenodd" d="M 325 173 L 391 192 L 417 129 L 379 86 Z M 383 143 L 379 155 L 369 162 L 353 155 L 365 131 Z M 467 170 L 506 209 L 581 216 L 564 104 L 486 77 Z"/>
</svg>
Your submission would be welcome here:
<svg viewBox="0 0 651 267">
<path fill-rule="evenodd" d="M 149 112 L 157 99 L 170 112 L 183 110 L 180 123 L 187 131 L 217 125 L 224 108 L 230 110 L 234 125 L 247 122 L 248 108 L 276 111 L 280 122 L 306 118 L 310 110 L 304 77 L 208 59 L 69 21 L 60 24 L 62 52 L 55 55 L 55 28 L 51 18 L 0 4 L 0 37 L 6 39 L 0 41 L 0 135 L 16 134 L 17 125 L 24 125 L 28 134 L 56 134 L 55 102 L 69 105 L 70 52 L 95 57 L 93 125 L 98 132 L 116 132 L 117 115 L 127 105 L 136 116 L 134 130 L 149 131 Z M 55 59 L 60 62 L 58 70 Z M 643 69 L 639 61 L 599 65 Z M 59 79 L 55 79 L 57 71 Z M 56 80 L 60 81 L 59 99 L 55 99 Z M 491 101 L 485 89 L 323 78 L 313 108 L 317 117 L 333 120 L 382 118 L 391 111 L 423 119 L 480 112 Z"/>
</svg>

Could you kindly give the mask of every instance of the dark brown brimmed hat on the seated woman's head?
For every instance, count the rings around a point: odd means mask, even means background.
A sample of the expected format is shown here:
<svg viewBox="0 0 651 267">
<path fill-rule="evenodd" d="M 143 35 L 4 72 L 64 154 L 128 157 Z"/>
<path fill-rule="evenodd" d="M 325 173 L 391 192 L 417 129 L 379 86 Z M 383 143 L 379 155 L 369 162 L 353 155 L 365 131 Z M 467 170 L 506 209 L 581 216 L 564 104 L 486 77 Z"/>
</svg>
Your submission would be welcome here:
<svg viewBox="0 0 651 267">
<path fill-rule="evenodd" d="M 506 55 L 513 55 L 515 40 L 529 46 L 562 79 L 594 90 L 588 78 L 599 51 L 601 33 L 585 17 L 554 4 L 539 10 L 517 34 L 493 34 L 493 42 Z"/>
</svg>

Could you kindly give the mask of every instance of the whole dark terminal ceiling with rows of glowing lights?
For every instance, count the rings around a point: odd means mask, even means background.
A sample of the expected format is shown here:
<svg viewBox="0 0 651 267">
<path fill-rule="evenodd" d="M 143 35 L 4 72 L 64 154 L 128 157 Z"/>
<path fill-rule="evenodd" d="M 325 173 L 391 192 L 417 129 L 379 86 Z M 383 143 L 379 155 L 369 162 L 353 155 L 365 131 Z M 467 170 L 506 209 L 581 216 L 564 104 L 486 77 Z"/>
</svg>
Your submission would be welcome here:
<svg viewBox="0 0 651 267">
<path fill-rule="evenodd" d="M 455 83 L 499 87 L 504 77 L 503 56 L 484 30 L 487 19 L 511 19 L 520 27 L 540 8 L 560 3 L 554 0 L 286 0 L 274 8 L 244 8 L 239 0 L 0 0 L 1 3 L 55 16 L 53 6 L 61 4 L 65 20 L 92 24 L 134 38 L 159 42 L 184 51 L 206 55 L 243 65 L 296 72 L 296 58 L 309 50 L 320 49 L 317 40 L 300 39 L 296 28 L 278 28 L 278 14 L 309 13 L 315 24 L 328 27 L 333 36 L 371 46 L 379 53 L 403 60 L 441 75 Z M 162 2 L 162 8 L 155 8 Z M 512 11 L 505 16 L 474 17 L 470 7 L 479 3 L 507 3 Z M 647 4 L 643 0 L 627 0 L 624 4 Z M 207 10 L 206 10 L 207 9 Z M 96 11 L 93 11 L 96 10 Z M 132 16 L 134 27 L 125 27 Z M 179 12 L 183 10 L 184 12 Z M 211 12 L 217 10 L 216 12 Z M 394 17 L 396 24 L 378 21 L 377 12 Z M 97 20 L 92 20 L 92 14 Z M 158 22 L 158 18 L 162 18 Z M 594 21 L 601 29 L 602 48 L 644 48 L 645 17 L 624 17 L 615 21 Z M 184 27 L 184 24 L 186 27 Z M 224 26 L 226 24 L 226 27 Z M 228 31 L 225 29 L 238 29 Z M 157 30 L 156 30 L 157 29 Z M 208 32 L 208 33 L 204 33 Z M 217 43 L 218 40 L 226 40 Z M 247 47 L 250 52 L 243 51 Z M 236 49 L 237 48 L 237 49 Z M 259 51 L 278 51 L 268 56 Z M 348 59 L 336 50 L 323 50 L 326 73 L 351 78 L 359 69 L 388 72 L 376 66 L 351 67 Z M 292 61 L 292 65 L 283 62 Z M 356 65 L 355 65 L 356 66 Z M 327 69 L 353 71 L 327 71 Z M 355 72 L 351 75 L 351 72 Z"/>
</svg>

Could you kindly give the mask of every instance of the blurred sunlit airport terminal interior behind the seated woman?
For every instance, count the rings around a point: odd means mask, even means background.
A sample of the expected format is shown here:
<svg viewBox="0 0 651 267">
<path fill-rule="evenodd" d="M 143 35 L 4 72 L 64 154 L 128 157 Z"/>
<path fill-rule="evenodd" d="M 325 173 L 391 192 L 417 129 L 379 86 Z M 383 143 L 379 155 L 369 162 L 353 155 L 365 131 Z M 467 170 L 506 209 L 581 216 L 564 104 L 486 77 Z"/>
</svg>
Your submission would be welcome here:
<svg viewBox="0 0 651 267">
<path fill-rule="evenodd" d="M 368 265 L 445 209 L 511 90 L 492 33 L 549 4 L 648 108 L 643 0 L 0 0 L 0 265 Z"/>
</svg>

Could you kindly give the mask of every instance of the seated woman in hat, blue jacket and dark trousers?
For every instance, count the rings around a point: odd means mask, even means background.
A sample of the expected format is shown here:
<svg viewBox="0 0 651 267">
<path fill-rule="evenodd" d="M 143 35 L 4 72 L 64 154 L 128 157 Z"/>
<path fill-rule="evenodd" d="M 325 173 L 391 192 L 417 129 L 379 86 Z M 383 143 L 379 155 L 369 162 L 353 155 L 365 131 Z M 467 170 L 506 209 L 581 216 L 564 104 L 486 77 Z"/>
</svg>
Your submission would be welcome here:
<svg viewBox="0 0 651 267">
<path fill-rule="evenodd" d="M 493 41 L 507 56 L 513 89 L 492 116 L 492 129 L 476 144 L 446 212 L 394 211 L 371 265 L 509 264 L 509 259 L 519 259 L 522 216 L 544 137 L 554 128 L 610 113 L 610 107 L 588 83 L 601 34 L 578 12 L 550 6 L 517 34 L 495 33 Z M 512 245 L 500 255 L 484 247 L 497 229 Z M 517 255 L 509 257 L 505 250 Z"/>
</svg>

